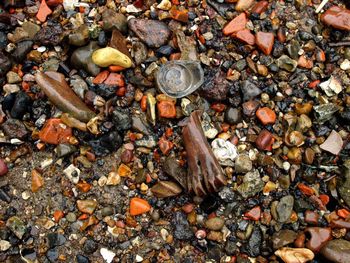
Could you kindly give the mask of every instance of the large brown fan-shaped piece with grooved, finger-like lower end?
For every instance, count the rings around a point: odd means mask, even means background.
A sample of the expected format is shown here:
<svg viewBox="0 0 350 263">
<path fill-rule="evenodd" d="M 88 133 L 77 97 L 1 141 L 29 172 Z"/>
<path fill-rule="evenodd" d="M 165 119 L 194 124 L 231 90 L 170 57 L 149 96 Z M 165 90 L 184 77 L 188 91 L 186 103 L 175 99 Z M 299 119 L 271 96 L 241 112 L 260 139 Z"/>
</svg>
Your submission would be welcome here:
<svg viewBox="0 0 350 263">
<path fill-rule="evenodd" d="M 226 178 L 204 135 L 200 114 L 194 111 L 182 123 L 182 135 L 189 168 L 188 189 L 197 196 L 205 196 L 219 191 L 226 184 Z"/>
</svg>

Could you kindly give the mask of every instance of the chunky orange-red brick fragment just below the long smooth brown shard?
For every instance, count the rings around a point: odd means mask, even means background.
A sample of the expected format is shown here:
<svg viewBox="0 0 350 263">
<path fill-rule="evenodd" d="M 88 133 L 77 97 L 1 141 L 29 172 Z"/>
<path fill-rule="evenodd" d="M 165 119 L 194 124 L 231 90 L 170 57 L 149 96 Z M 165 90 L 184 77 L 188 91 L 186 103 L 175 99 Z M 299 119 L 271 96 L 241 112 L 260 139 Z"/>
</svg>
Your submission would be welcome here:
<svg viewBox="0 0 350 263">
<path fill-rule="evenodd" d="M 64 125 L 61 119 L 49 119 L 39 132 L 39 139 L 49 144 L 68 143 L 72 129 Z"/>
</svg>

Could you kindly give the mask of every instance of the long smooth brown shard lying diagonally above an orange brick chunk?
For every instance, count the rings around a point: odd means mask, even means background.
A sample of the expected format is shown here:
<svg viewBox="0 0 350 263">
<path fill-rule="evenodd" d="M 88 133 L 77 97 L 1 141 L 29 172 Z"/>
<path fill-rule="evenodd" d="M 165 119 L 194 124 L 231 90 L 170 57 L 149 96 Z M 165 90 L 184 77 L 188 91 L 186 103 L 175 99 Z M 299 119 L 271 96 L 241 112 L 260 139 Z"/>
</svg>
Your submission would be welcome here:
<svg viewBox="0 0 350 263">
<path fill-rule="evenodd" d="M 35 80 L 49 100 L 61 111 L 83 122 L 88 122 L 95 116 L 68 86 L 63 74 L 53 71 L 38 72 Z"/>
</svg>

